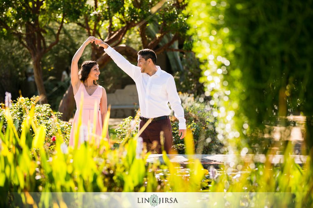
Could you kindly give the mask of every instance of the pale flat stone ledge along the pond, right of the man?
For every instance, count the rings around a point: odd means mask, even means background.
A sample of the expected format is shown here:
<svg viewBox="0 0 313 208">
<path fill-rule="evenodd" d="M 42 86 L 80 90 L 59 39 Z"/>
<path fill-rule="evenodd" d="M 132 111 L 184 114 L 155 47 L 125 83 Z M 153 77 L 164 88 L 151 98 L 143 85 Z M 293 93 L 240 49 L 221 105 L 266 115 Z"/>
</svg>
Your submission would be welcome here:
<svg viewBox="0 0 313 208">
<path fill-rule="evenodd" d="M 159 160 L 161 163 L 164 163 L 163 154 L 151 154 L 148 156 L 147 162 L 156 162 Z M 218 167 L 221 164 L 229 165 L 229 163 L 234 162 L 265 162 L 266 156 L 264 154 L 246 154 L 245 156 L 241 155 L 181 155 L 173 154 L 167 155 L 171 162 L 179 163 L 182 167 L 185 167 L 188 163 L 192 162 L 195 159 L 200 160 L 204 168 L 208 168 L 211 165 Z M 268 155 L 269 161 L 272 164 L 278 164 L 284 162 L 284 155 Z M 295 163 L 303 165 L 306 162 L 307 156 L 305 155 L 290 155 L 295 160 Z M 190 160 L 188 160 L 190 158 Z"/>
</svg>

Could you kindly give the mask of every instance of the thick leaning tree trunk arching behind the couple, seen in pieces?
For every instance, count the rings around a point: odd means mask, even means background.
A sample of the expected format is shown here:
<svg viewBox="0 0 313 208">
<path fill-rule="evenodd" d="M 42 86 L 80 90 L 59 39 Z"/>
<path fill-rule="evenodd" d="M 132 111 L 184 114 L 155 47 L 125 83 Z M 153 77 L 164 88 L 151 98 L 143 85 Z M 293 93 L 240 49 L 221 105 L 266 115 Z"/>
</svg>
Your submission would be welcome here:
<svg viewBox="0 0 313 208">
<path fill-rule="evenodd" d="M 119 52 L 121 55 L 127 56 L 129 61 L 137 61 L 137 51 L 129 46 L 126 45 L 119 45 L 114 47 L 114 49 Z M 99 63 L 99 68 L 103 68 L 107 63 L 111 60 L 110 56 L 104 53 L 97 62 Z M 72 85 L 66 90 L 65 94 L 63 95 L 63 99 L 59 104 L 58 111 L 63 113 L 62 120 L 69 121 L 72 116 L 72 112 L 75 108 L 75 99 L 74 99 L 74 91 Z"/>
</svg>

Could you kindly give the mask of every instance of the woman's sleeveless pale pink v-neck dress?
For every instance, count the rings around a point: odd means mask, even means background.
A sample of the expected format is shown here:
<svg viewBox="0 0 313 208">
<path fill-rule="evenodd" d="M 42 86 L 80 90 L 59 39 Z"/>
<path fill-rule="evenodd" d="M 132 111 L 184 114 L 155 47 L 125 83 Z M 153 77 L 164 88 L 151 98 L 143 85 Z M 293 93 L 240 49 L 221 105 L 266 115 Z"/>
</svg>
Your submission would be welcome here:
<svg viewBox="0 0 313 208">
<path fill-rule="evenodd" d="M 84 84 L 81 82 L 77 93 L 74 95 L 76 102 L 76 112 L 69 135 L 69 146 L 75 146 L 75 134 L 79 132 L 78 146 L 81 141 L 91 140 L 93 128 L 95 127 L 94 138 L 96 143 L 99 142 L 102 133 L 102 116 L 100 112 L 100 100 L 102 97 L 102 87 L 99 85 L 92 95 L 89 95 L 85 89 Z M 80 103 L 82 100 L 82 104 Z M 96 106 L 96 111 L 94 111 Z M 81 110 L 81 125 L 78 127 L 79 116 Z M 94 123 L 95 122 L 95 123 Z M 79 131 L 78 131 L 79 128 Z M 88 136 L 89 135 L 89 136 Z M 89 138 L 88 138 L 89 137 Z M 99 144 L 99 143 L 98 143 Z"/>
</svg>

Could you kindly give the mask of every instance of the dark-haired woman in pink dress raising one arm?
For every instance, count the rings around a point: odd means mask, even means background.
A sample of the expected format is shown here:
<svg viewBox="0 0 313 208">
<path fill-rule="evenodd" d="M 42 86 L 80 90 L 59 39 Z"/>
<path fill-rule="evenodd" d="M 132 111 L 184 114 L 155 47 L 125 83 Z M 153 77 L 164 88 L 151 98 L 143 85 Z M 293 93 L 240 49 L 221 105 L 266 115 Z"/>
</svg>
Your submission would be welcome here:
<svg viewBox="0 0 313 208">
<path fill-rule="evenodd" d="M 78 71 L 78 60 L 80 56 L 85 47 L 94 40 L 95 37 L 89 37 L 76 51 L 72 59 L 71 82 L 77 107 L 69 136 L 69 146 L 73 148 L 75 146 L 75 134 L 78 132 L 80 110 L 81 126 L 80 135 L 77 135 L 79 137 L 78 145 L 80 145 L 81 141 L 90 140 L 93 135 L 92 133 L 95 133 L 94 138 L 96 143 L 99 142 L 105 115 L 108 111 L 105 89 L 97 84 L 100 75 L 98 63 L 92 60 L 84 61 L 80 71 Z M 80 103 L 81 100 L 82 105 Z M 96 112 L 94 111 L 95 109 Z M 87 137 L 88 134 L 89 137 Z M 106 138 L 109 139 L 109 133 L 107 133 Z"/>
</svg>

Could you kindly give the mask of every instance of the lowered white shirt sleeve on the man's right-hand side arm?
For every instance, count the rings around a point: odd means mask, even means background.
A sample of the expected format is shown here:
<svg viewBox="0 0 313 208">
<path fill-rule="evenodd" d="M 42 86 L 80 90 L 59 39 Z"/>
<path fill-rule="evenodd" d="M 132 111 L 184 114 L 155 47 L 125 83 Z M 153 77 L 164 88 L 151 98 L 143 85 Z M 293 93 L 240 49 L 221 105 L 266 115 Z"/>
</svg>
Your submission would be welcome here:
<svg viewBox="0 0 313 208">
<path fill-rule="evenodd" d="M 168 101 L 171 104 L 171 108 L 174 110 L 174 116 L 178 119 L 178 127 L 179 129 L 187 129 L 186 128 L 186 119 L 184 116 L 184 109 L 182 108 L 182 101 L 178 96 L 174 77 L 171 76 L 167 80 L 166 92 L 168 95 Z"/>
</svg>

